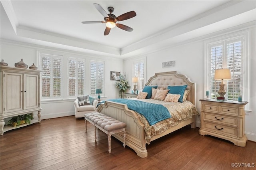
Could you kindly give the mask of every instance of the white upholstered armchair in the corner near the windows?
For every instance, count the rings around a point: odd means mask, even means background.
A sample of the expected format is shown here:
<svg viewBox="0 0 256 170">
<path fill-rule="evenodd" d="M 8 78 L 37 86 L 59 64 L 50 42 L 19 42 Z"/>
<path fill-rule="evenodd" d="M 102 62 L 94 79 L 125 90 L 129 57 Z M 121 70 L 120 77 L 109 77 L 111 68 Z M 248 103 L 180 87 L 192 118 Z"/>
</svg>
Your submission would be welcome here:
<svg viewBox="0 0 256 170">
<path fill-rule="evenodd" d="M 78 99 L 76 99 L 74 101 L 75 116 L 76 117 L 84 117 L 84 114 L 86 114 L 86 113 L 97 112 L 97 109 L 96 109 L 97 105 L 98 105 L 98 101 L 94 100 L 92 105 L 79 106 Z"/>
</svg>

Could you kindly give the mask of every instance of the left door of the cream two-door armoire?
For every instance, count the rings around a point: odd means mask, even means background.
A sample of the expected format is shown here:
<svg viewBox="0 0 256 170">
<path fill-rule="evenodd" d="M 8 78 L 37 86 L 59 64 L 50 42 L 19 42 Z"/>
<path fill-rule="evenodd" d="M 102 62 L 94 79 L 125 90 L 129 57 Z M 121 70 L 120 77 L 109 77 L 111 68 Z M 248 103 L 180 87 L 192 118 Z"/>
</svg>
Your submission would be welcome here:
<svg viewBox="0 0 256 170">
<path fill-rule="evenodd" d="M 4 113 L 20 111 L 23 97 L 23 74 L 4 73 Z"/>
</svg>

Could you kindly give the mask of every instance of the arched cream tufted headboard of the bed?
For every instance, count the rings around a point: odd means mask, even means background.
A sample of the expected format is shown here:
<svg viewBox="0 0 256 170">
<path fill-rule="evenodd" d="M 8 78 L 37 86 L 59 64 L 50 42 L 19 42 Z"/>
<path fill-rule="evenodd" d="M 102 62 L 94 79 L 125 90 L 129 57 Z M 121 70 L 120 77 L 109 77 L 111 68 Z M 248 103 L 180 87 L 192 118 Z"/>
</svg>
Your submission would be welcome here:
<svg viewBox="0 0 256 170">
<path fill-rule="evenodd" d="M 189 89 L 190 92 L 187 100 L 196 105 L 196 83 L 190 81 L 186 75 L 179 74 L 178 71 L 155 73 L 145 85 L 158 85 L 158 88 L 165 87 L 166 89 L 168 86 L 188 85 L 186 89 Z"/>
</svg>

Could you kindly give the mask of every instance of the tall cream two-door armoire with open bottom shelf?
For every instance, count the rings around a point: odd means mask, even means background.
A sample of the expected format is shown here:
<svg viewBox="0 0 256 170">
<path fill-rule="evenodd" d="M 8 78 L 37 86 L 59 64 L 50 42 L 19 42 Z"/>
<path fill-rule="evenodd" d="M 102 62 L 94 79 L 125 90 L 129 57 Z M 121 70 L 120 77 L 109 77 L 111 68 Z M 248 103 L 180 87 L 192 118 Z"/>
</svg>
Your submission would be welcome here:
<svg viewBox="0 0 256 170">
<path fill-rule="evenodd" d="M 30 123 L 40 123 L 40 71 L 1 66 L 0 79 L 0 135 L 17 128 L 4 126 L 5 118 L 37 112 L 38 120 Z"/>
</svg>

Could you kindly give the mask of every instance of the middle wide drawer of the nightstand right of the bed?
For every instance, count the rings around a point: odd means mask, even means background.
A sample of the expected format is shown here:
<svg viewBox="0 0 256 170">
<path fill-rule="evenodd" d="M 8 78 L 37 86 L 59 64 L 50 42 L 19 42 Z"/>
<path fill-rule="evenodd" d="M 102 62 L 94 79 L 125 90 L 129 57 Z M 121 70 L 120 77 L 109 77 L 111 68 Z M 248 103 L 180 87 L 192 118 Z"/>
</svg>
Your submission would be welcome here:
<svg viewBox="0 0 256 170">
<path fill-rule="evenodd" d="M 238 127 L 238 117 L 204 113 L 204 120 Z"/>
</svg>

